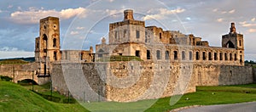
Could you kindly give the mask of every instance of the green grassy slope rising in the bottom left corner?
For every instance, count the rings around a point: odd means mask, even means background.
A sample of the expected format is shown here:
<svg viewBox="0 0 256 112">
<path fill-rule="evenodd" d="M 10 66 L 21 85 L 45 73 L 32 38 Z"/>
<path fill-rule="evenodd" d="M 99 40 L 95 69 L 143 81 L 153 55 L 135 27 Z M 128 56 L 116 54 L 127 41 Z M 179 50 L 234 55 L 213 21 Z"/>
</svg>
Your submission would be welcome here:
<svg viewBox="0 0 256 112">
<path fill-rule="evenodd" d="M 79 104 L 56 104 L 20 85 L 0 81 L 0 111 L 85 111 Z"/>
</svg>

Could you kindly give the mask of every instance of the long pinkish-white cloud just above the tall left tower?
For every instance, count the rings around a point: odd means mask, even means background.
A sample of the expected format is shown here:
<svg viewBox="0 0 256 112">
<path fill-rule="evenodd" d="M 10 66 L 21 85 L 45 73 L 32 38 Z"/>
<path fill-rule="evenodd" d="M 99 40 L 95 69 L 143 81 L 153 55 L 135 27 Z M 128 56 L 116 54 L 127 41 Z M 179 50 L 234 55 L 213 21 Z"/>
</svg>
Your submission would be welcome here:
<svg viewBox="0 0 256 112">
<path fill-rule="evenodd" d="M 85 8 L 67 8 L 62 9 L 61 11 L 56 11 L 55 9 L 44 10 L 44 8 L 34 8 L 31 7 L 27 11 L 16 11 L 10 14 L 10 19 L 15 23 L 20 24 L 35 24 L 38 23 L 38 20 L 48 17 L 48 16 L 56 16 L 60 17 L 61 20 L 70 19 L 82 12 L 84 12 Z"/>
</svg>

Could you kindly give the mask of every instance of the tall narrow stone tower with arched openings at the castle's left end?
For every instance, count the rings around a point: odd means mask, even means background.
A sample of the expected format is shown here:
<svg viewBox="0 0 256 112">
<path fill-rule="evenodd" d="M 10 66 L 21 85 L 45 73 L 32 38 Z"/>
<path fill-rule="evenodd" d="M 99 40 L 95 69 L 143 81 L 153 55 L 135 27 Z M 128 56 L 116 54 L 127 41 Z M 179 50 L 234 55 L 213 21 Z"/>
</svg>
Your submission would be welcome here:
<svg viewBox="0 0 256 112">
<path fill-rule="evenodd" d="M 49 74 L 49 63 L 61 59 L 60 23 L 55 17 L 40 20 L 40 34 L 36 38 L 35 60 L 40 64 L 39 74 Z"/>
</svg>

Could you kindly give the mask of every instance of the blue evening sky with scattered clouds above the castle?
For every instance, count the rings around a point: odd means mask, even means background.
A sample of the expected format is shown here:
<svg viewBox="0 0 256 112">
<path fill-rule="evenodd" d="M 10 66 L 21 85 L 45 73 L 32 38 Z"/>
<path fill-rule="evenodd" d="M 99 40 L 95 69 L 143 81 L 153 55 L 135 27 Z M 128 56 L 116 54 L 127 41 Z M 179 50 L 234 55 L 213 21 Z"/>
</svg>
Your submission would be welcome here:
<svg viewBox="0 0 256 112">
<path fill-rule="evenodd" d="M 245 59 L 256 60 L 255 0 L 2 0 L 0 1 L 0 59 L 34 56 L 39 20 L 60 18 L 61 49 L 95 48 L 108 24 L 134 10 L 136 20 L 164 30 L 194 34 L 220 47 L 230 23 L 244 35 Z"/>
</svg>

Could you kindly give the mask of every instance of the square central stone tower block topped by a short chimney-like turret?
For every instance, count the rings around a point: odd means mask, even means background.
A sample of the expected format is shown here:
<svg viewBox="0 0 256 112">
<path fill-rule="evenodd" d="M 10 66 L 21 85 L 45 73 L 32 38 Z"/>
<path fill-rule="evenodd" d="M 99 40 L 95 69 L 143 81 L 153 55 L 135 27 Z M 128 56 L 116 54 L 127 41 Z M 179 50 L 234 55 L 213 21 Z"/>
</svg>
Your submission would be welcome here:
<svg viewBox="0 0 256 112">
<path fill-rule="evenodd" d="M 109 44 L 145 42 L 145 22 L 133 19 L 133 10 L 124 11 L 124 20 L 109 24 Z"/>
</svg>

